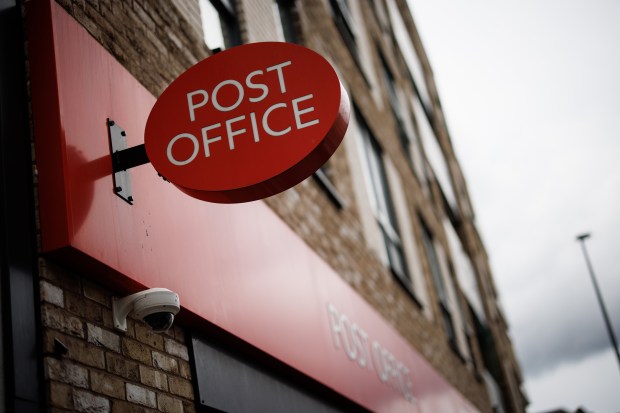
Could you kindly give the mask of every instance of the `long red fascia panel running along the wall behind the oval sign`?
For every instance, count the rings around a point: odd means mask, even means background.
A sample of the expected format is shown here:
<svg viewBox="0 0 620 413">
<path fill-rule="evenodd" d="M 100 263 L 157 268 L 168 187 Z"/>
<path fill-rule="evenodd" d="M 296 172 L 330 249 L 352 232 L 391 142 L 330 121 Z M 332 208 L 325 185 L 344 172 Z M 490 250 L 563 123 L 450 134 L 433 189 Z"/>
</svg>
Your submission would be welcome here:
<svg viewBox="0 0 620 413">
<path fill-rule="evenodd" d="M 142 144 L 155 99 L 54 1 L 26 6 L 44 253 L 123 293 L 170 288 L 193 328 L 370 410 L 476 411 L 263 202 L 204 203 L 150 165 L 134 205 L 116 196 L 106 120 Z"/>
</svg>

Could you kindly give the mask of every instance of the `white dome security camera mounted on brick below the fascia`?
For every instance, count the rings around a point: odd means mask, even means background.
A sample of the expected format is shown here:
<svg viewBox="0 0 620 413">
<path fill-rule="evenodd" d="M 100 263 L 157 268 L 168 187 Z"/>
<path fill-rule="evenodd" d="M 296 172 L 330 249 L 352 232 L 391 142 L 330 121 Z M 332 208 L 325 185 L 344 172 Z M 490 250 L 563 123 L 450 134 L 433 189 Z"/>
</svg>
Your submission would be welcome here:
<svg viewBox="0 0 620 413">
<path fill-rule="evenodd" d="M 167 331 L 181 309 L 179 295 L 166 288 L 150 288 L 123 298 L 112 299 L 114 328 L 127 331 L 127 316 L 142 319 L 154 332 Z"/>
</svg>

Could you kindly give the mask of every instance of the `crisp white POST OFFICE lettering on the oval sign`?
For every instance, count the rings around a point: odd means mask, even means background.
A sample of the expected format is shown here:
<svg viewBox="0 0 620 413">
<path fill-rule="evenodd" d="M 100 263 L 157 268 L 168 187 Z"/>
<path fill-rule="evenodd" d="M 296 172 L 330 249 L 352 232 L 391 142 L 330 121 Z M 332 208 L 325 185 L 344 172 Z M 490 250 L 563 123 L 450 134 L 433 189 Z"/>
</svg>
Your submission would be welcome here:
<svg viewBox="0 0 620 413">
<path fill-rule="evenodd" d="M 286 67 L 292 64 L 290 60 L 287 60 L 269 66 L 264 70 L 254 70 L 245 77 L 243 83 L 235 79 L 223 80 L 213 88 L 211 93 L 204 89 L 196 89 L 186 93 L 187 113 L 190 122 L 195 122 L 197 114 L 202 110 L 215 109 L 218 112 L 230 112 L 238 108 L 245 99 L 250 103 L 261 102 L 273 89 L 275 89 L 274 93 L 276 94 L 287 94 L 285 73 Z M 271 74 L 268 76 L 270 72 L 274 72 L 275 76 Z M 271 88 L 270 85 L 272 86 Z M 226 96 L 226 98 L 224 99 L 223 96 Z M 280 137 L 288 135 L 293 130 L 317 125 L 319 124 L 319 119 L 313 117 L 313 112 L 315 111 L 312 103 L 313 99 L 313 94 L 289 98 L 274 103 L 263 113 L 250 112 L 227 119 L 223 122 L 224 127 L 222 127 L 222 123 L 202 126 L 202 140 L 199 140 L 194 134 L 189 132 L 179 133 L 168 142 L 166 148 L 167 158 L 173 165 L 183 166 L 193 162 L 198 157 L 200 146 L 202 146 L 204 157 L 209 158 L 213 155 L 209 145 L 215 142 L 227 141 L 228 150 L 232 151 L 235 149 L 235 139 L 242 139 L 245 135 L 251 138 L 254 143 L 258 143 L 261 136 Z M 274 123 L 270 122 L 270 117 L 277 117 L 277 113 L 280 111 L 282 111 L 282 115 L 292 113 L 294 122 L 290 125 L 282 125 L 280 120 L 278 122 L 279 127 L 275 127 Z M 285 111 L 288 111 L 288 113 Z M 282 118 L 280 116 L 280 119 Z M 220 128 L 223 130 L 218 131 Z M 175 155 L 174 147 L 176 144 L 186 140 L 191 141 L 193 145 L 192 153 L 189 157 L 182 157 L 185 159 L 179 159 L 180 156 Z M 183 145 L 186 146 L 187 142 L 184 142 Z M 221 144 L 217 147 L 219 147 L 219 150 L 222 150 Z"/>
</svg>

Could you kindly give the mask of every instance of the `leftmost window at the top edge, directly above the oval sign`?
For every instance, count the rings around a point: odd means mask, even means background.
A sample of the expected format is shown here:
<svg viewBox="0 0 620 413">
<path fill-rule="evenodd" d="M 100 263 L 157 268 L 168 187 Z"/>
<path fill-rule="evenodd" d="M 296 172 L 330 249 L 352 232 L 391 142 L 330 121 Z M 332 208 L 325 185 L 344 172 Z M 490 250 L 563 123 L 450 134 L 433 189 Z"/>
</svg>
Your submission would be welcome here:
<svg viewBox="0 0 620 413">
<path fill-rule="evenodd" d="M 233 2 L 200 0 L 200 17 L 205 44 L 218 51 L 241 44 L 241 33 Z"/>
</svg>

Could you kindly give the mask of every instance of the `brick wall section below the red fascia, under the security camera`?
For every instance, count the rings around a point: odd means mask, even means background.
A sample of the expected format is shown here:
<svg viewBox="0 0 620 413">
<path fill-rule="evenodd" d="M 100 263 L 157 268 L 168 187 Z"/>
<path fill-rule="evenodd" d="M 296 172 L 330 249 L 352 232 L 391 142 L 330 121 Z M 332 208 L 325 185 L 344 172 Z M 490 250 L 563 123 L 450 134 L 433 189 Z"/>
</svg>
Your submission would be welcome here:
<svg viewBox="0 0 620 413">
<path fill-rule="evenodd" d="M 112 324 L 112 293 L 40 260 L 45 389 L 50 411 L 195 412 L 183 330 Z"/>
</svg>

